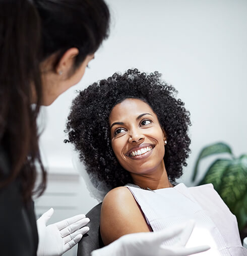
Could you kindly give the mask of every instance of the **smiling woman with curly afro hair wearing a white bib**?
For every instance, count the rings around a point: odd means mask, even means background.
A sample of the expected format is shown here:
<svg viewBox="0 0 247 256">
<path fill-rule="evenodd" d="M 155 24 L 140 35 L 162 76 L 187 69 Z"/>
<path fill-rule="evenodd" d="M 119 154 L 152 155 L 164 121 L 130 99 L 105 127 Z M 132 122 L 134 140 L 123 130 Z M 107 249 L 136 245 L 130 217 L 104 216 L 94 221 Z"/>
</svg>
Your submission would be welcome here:
<svg viewBox="0 0 247 256">
<path fill-rule="evenodd" d="M 102 203 L 102 240 L 109 244 L 194 219 L 188 246 L 209 244 L 202 255 L 246 255 L 236 218 L 212 184 L 175 184 L 190 152 L 190 114 L 160 76 L 136 69 L 116 73 L 74 100 L 69 141 L 94 181 L 113 188 Z"/>
</svg>

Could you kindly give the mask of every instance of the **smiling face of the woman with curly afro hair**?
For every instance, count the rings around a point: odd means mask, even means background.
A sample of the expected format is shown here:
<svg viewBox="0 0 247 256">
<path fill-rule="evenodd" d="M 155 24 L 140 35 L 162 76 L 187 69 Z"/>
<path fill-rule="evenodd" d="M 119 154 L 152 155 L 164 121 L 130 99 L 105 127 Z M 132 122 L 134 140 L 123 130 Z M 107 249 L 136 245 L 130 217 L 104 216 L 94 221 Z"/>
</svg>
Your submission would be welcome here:
<svg viewBox="0 0 247 256">
<path fill-rule="evenodd" d="M 162 168 L 165 132 L 148 104 L 127 98 L 109 116 L 111 146 L 120 165 L 135 174 Z"/>
</svg>

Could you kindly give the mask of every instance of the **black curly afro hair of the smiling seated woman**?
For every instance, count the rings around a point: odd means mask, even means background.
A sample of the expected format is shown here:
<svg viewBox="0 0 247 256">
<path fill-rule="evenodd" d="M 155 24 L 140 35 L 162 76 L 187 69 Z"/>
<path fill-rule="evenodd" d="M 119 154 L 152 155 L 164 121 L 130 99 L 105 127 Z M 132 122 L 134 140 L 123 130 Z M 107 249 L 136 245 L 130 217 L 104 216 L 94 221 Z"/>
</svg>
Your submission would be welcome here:
<svg viewBox="0 0 247 256">
<path fill-rule="evenodd" d="M 146 74 L 137 69 L 122 75 L 115 73 L 79 91 L 68 117 L 69 140 L 65 142 L 74 144 L 87 172 L 96 176 L 95 186 L 104 181 L 111 189 L 133 182 L 114 155 L 109 129 L 111 110 L 126 98 L 142 99 L 156 113 L 168 140 L 164 156 L 168 178 L 174 182 L 182 175 L 190 153 L 191 121 L 184 103 L 175 98 L 176 93 L 174 87 L 161 80 L 160 73 Z"/>
</svg>

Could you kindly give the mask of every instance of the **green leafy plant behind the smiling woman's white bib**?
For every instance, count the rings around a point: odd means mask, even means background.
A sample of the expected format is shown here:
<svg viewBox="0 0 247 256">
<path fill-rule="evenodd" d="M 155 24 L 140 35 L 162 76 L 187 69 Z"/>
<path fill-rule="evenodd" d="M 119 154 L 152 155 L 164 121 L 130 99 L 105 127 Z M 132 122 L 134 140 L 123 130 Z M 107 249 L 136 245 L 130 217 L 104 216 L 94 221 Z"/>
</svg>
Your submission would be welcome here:
<svg viewBox="0 0 247 256">
<path fill-rule="evenodd" d="M 196 180 L 201 160 L 219 153 L 227 153 L 228 157 L 215 160 L 198 185 L 214 185 L 214 189 L 236 216 L 242 239 L 247 235 L 247 155 L 235 158 L 230 146 L 222 142 L 208 145 L 199 153 L 192 181 Z"/>
</svg>

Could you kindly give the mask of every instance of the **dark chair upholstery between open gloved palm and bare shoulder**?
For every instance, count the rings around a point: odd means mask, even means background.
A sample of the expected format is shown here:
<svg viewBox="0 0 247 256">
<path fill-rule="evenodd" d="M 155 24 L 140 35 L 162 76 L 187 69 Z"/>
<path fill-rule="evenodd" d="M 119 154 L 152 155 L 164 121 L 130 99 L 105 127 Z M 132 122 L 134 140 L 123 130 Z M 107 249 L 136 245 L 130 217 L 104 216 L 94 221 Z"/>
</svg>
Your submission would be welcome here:
<svg viewBox="0 0 247 256">
<path fill-rule="evenodd" d="M 86 216 L 90 219 L 88 227 L 90 230 L 78 243 L 77 256 L 90 256 L 93 250 L 104 246 L 99 230 L 101 203 L 91 209 Z"/>
</svg>

